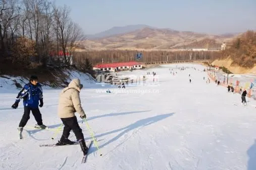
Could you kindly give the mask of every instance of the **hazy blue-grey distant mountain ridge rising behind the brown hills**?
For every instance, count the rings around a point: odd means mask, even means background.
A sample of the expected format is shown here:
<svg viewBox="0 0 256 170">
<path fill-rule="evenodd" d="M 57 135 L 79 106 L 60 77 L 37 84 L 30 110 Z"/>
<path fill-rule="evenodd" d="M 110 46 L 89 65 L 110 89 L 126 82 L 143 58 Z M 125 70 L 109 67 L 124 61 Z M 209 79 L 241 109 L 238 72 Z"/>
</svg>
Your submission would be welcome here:
<svg viewBox="0 0 256 170">
<path fill-rule="evenodd" d="M 118 34 L 125 34 L 125 33 L 139 30 L 142 28 L 153 28 L 153 27 L 148 26 L 148 25 L 143 25 L 143 24 L 127 25 L 127 26 L 123 26 L 123 27 L 113 27 L 109 30 L 106 30 L 106 31 L 103 31 L 100 33 L 86 35 L 86 38 L 87 39 L 104 38 L 104 37 L 109 37 L 109 36 L 118 35 Z"/>
</svg>

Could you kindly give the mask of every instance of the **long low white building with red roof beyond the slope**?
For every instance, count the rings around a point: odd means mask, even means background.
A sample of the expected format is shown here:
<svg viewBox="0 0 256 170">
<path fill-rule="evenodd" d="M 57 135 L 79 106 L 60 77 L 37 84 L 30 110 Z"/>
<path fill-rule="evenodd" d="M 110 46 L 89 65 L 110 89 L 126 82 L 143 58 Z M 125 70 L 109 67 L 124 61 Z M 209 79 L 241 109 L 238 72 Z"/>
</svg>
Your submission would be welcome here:
<svg viewBox="0 0 256 170">
<path fill-rule="evenodd" d="M 126 62 L 126 63 L 108 63 L 96 65 L 93 70 L 99 69 L 100 71 L 118 71 L 118 70 L 129 70 L 129 69 L 141 69 L 142 65 L 137 62 Z"/>
</svg>

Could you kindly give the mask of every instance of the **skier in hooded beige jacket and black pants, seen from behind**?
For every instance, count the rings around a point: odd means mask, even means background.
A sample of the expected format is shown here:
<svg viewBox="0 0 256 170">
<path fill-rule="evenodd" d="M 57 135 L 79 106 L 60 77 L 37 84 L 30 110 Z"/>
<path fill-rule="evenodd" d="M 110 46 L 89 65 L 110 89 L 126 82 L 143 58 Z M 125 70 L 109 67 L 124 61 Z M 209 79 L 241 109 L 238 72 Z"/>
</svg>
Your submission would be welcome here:
<svg viewBox="0 0 256 170">
<path fill-rule="evenodd" d="M 83 85 L 79 79 L 73 79 L 68 87 L 61 91 L 58 106 L 58 116 L 64 124 L 63 134 L 57 145 L 74 144 L 75 142 L 68 139 L 70 131 L 72 130 L 76 136 L 77 141 L 86 155 L 88 147 L 85 144 L 82 129 L 79 127 L 75 112 L 78 112 L 81 119 L 85 119 L 86 115 L 81 106 L 80 91 Z"/>
</svg>

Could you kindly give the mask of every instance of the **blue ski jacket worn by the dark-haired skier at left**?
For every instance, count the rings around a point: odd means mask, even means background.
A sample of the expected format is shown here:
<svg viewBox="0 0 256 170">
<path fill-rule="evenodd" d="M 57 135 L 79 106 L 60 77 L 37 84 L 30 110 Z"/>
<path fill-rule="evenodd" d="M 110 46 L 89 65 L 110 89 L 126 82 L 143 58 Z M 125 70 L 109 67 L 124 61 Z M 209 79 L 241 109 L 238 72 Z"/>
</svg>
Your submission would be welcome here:
<svg viewBox="0 0 256 170">
<path fill-rule="evenodd" d="M 33 85 L 31 83 L 26 84 L 16 97 L 15 102 L 20 102 L 23 98 L 23 105 L 38 108 L 39 100 L 43 99 L 42 86 L 40 83 Z"/>
</svg>

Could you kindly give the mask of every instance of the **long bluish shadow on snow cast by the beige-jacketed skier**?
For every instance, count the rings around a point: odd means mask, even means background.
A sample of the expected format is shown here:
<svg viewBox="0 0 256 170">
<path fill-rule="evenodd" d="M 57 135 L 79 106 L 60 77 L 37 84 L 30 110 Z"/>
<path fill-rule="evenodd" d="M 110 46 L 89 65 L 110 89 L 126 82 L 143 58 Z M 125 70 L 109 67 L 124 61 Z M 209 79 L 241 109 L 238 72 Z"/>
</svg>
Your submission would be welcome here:
<svg viewBox="0 0 256 170">
<path fill-rule="evenodd" d="M 102 137 L 102 136 L 105 136 L 105 135 L 109 135 L 109 134 L 112 134 L 112 133 L 117 133 L 117 132 L 120 132 L 122 131 L 120 134 L 118 134 L 116 137 L 114 137 L 113 139 L 109 140 L 108 142 L 106 142 L 105 144 L 99 146 L 99 148 L 102 148 L 116 140 L 118 140 L 121 136 L 123 136 L 124 134 L 126 134 L 127 132 L 131 131 L 131 130 L 134 130 L 136 128 L 142 128 L 144 126 L 148 126 L 148 125 L 151 125 L 153 123 L 156 123 L 156 122 L 159 122 L 161 120 L 164 120 L 170 116 L 174 115 L 174 113 L 171 113 L 171 114 L 164 114 L 164 115 L 158 115 L 158 116 L 155 116 L 155 117 L 150 117 L 150 118 L 146 118 L 146 119 L 142 119 L 142 120 L 139 120 L 131 125 L 128 125 L 124 128 L 120 128 L 120 129 L 117 129 L 117 130 L 114 130 L 114 131 L 111 131 L 111 132 L 107 132 L 107 133 L 103 133 L 103 134 L 100 134 L 100 135 L 96 135 L 95 137 L 98 138 L 98 137 Z M 131 137 L 131 136 L 130 136 Z M 130 138 L 129 137 L 129 138 Z M 86 140 L 88 140 L 90 138 L 87 138 Z M 126 138 L 123 142 L 121 142 L 119 145 L 123 144 L 128 138 Z M 118 147 L 116 146 L 116 147 Z M 115 147 L 115 148 L 116 148 Z M 94 150 L 93 150 L 94 151 Z M 92 152 L 93 152 L 92 151 Z"/>
</svg>

